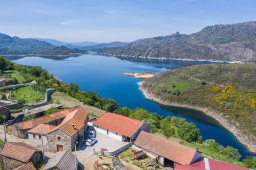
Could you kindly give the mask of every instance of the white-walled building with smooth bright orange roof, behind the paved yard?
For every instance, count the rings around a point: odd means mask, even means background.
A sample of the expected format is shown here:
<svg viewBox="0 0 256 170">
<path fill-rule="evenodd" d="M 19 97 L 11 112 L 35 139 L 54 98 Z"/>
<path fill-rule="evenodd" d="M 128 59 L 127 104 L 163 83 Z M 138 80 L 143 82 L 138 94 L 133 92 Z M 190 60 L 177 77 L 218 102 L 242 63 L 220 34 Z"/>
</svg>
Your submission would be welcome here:
<svg viewBox="0 0 256 170">
<path fill-rule="evenodd" d="M 132 142 L 140 131 L 150 132 L 150 124 L 143 120 L 107 112 L 92 124 L 97 133 L 108 135 L 119 141 Z"/>
</svg>

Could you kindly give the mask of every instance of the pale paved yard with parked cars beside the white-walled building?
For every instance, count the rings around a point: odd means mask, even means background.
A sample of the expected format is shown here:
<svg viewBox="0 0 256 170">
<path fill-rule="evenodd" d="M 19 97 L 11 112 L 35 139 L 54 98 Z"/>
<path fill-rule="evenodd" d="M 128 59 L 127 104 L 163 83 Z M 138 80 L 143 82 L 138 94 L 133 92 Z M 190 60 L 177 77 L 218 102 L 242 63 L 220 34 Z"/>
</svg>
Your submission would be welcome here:
<svg viewBox="0 0 256 170">
<path fill-rule="evenodd" d="M 89 130 L 90 129 L 92 129 L 92 125 L 89 125 Z M 85 141 L 88 138 L 88 133 L 89 131 L 87 131 L 85 134 Z M 96 133 L 95 138 L 97 139 L 97 142 L 94 143 L 91 147 L 87 146 L 84 142 L 80 148 L 77 148 L 76 156 L 80 163 L 84 164 L 84 160 L 93 155 L 93 149 L 100 150 L 101 148 L 106 148 L 108 151 L 113 151 L 127 144 L 127 142 L 118 141 L 100 133 Z M 75 152 L 73 153 L 75 154 Z"/>
</svg>

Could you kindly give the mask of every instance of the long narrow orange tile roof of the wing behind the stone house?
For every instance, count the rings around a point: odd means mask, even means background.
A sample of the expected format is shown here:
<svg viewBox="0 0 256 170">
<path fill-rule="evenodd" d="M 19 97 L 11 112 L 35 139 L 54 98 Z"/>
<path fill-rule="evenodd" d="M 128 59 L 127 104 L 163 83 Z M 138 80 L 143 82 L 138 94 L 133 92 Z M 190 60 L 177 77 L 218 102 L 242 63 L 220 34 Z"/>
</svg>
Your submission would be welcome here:
<svg viewBox="0 0 256 170">
<path fill-rule="evenodd" d="M 35 118 L 34 120 L 28 120 L 25 122 L 15 123 L 14 126 L 16 125 L 20 129 L 33 128 L 39 124 L 46 124 L 46 123 L 51 122 L 52 120 L 64 118 L 68 115 L 68 113 L 69 113 L 68 110 L 62 110 L 62 111 L 56 112 L 54 114 Z M 34 121 L 34 125 L 33 125 L 33 121 Z"/>
</svg>

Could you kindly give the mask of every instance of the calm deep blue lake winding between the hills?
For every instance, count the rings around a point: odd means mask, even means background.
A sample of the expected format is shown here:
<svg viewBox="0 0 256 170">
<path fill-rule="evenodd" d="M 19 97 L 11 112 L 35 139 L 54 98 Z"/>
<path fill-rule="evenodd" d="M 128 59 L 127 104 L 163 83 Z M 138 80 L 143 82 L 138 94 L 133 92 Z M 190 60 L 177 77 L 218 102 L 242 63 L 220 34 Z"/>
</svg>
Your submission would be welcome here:
<svg viewBox="0 0 256 170">
<path fill-rule="evenodd" d="M 62 79 L 65 83 L 71 82 L 79 85 L 83 91 L 92 91 L 105 98 L 112 98 L 120 107 L 131 109 L 145 108 L 150 112 L 157 112 L 164 117 L 167 115 L 185 118 L 201 129 L 203 140 L 215 139 L 223 146 L 231 145 L 237 148 L 244 158 L 253 155 L 244 145 L 227 130 L 223 129 L 217 121 L 206 116 L 201 111 L 179 107 L 162 106 L 148 100 L 139 90 L 138 82 L 142 79 L 123 75 L 124 72 L 163 72 L 193 64 L 206 64 L 201 61 L 176 60 L 122 60 L 112 56 L 84 54 L 62 60 L 46 59 L 35 56 L 25 58 L 8 58 L 19 64 L 41 66 L 51 74 Z"/>
</svg>

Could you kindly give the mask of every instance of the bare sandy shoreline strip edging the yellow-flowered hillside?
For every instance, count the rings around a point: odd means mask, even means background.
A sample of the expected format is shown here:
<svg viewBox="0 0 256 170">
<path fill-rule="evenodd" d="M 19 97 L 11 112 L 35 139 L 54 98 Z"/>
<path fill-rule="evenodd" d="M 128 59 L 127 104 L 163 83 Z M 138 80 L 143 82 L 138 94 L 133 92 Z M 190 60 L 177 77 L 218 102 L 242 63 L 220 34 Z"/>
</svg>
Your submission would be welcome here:
<svg viewBox="0 0 256 170">
<path fill-rule="evenodd" d="M 155 96 L 153 93 L 151 93 L 147 89 L 143 88 L 142 87 L 143 82 L 139 82 L 138 84 L 140 85 L 140 90 L 142 91 L 142 93 L 145 95 L 146 98 L 148 98 L 150 100 L 156 101 L 158 103 L 161 103 L 161 104 L 164 104 L 167 106 L 178 106 L 178 107 L 185 107 L 185 108 L 191 108 L 191 109 L 203 111 L 206 115 L 211 116 L 212 118 L 217 120 L 223 127 L 228 129 L 228 131 L 233 133 L 233 135 L 237 138 L 237 140 L 239 142 L 241 142 L 242 144 L 244 144 L 250 152 L 256 153 L 256 144 L 255 144 L 256 137 L 252 136 L 251 134 L 249 134 L 249 133 L 245 132 L 243 129 L 241 129 L 241 127 L 239 127 L 239 124 L 236 123 L 235 121 L 231 122 L 223 114 L 221 114 L 221 113 L 216 114 L 216 111 L 214 111 L 214 110 L 210 110 L 210 109 L 198 107 L 198 106 L 191 106 L 189 104 L 179 104 L 179 103 L 175 103 L 175 102 L 169 102 L 169 101 L 162 100 L 161 98 L 158 98 L 157 96 Z"/>
</svg>

